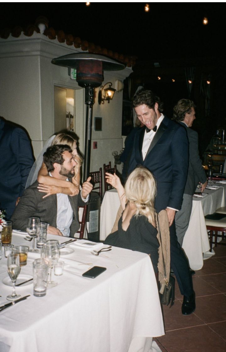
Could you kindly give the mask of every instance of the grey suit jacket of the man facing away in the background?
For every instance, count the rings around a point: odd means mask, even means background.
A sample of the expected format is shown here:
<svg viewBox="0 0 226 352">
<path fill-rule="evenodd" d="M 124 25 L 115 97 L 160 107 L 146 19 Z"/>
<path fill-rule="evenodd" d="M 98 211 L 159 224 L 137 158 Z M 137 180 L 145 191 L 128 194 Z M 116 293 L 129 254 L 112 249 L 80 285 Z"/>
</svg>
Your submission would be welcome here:
<svg viewBox="0 0 226 352">
<path fill-rule="evenodd" d="M 186 129 L 188 142 L 189 142 L 189 164 L 188 164 L 188 177 L 185 185 L 185 194 L 194 194 L 199 182 L 206 182 L 206 174 L 202 167 L 202 161 L 199 157 L 198 148 L 198 133 L 189 128 L 182 121 L 181 126 Z"/>
</svg>

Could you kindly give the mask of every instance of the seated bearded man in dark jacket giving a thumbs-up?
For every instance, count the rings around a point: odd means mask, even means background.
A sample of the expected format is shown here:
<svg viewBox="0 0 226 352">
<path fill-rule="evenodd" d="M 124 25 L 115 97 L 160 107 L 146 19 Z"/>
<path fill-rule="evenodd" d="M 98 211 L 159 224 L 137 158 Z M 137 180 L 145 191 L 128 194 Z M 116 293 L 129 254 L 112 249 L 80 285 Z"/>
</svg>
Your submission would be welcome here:
<svg viewBox="0 0 226 352">
<path fill-rule="evenodd" d="M 69 181 L 75 176 L 75 161 L 68 145 L 57 144 L 49 147 L 43 155 L 43 161 L 49 175 L 58 180 Z M 70 236 L 79 230 L 78 206 L 88 203 L 92 184 L 88 177 L 78 195 L 68 196 L 63 193 L 48 194 L 43 197 L 38 181 L 28 187 L 14 210 L 11 220 L 13 228 L 26 231 L 27 219 L 38 216 L 42 222 L 47 222 L 48 233 L 59 236 Z M 70 181 L 69 181 L 70 182 Z"/>
</svg>

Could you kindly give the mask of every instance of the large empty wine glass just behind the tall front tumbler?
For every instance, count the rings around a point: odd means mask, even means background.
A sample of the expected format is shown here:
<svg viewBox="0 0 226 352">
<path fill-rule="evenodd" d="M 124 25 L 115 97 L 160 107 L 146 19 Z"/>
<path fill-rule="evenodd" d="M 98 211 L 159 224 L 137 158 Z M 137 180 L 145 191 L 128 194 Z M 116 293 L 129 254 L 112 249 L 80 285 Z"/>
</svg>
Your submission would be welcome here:
<svg viewBox="0 0 226 352">
<path fill-rule="evenodd" d="M 41 258 L 49 265 L 49 277 L 47 281 L 47 287 L 54 287 L 57 285 L 56 281 L 52 281 L 52 267 L 59 260 L 59 249 L 56 241 L 47 241 L 43 245 L 43 249 L 41 251 Z"/>
</svg>

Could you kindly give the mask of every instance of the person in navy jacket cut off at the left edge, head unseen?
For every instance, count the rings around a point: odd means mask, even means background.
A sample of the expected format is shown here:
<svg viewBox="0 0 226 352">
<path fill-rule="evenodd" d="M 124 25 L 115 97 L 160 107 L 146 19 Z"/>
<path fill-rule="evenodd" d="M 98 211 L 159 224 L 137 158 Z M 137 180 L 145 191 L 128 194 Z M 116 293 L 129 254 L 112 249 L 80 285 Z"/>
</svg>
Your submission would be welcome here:
<svg viewBox="0 0 226 352">
<path fill-rule="evenodd" d="M 31 143 L 22 128 L 0 117 L 0 209 L 10 219 L 33 165 Z"/>
</svg>

